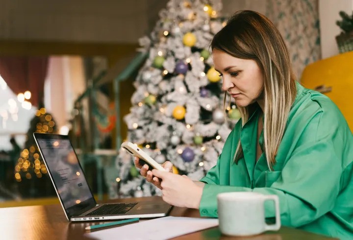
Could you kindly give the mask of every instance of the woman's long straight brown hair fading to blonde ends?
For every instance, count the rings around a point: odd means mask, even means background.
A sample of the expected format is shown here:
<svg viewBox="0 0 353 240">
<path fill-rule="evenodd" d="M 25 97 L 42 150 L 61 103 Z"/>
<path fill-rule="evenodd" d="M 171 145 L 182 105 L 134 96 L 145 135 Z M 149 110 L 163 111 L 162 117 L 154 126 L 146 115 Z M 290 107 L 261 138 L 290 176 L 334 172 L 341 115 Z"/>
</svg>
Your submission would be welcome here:
<svg viewBox="0 0 353 240">
<path fill-rule="evenodd" d="M 236 58 L 252 59 L 259 66 L 264 78 L 264 147 L 268 167 L 272 170 L 288 114 L 297 95 L 295 75 L 283 38 L 267 17 L 244 10 L 236 12 L 214 36 L 211 48 Z M 227 93 L 225 102 L 226 97 Z M 244 126 L 249 119 L 251 106 L 238 109 Z M 235 163 L 243 155 L 239 139 Z"/>
</svg>

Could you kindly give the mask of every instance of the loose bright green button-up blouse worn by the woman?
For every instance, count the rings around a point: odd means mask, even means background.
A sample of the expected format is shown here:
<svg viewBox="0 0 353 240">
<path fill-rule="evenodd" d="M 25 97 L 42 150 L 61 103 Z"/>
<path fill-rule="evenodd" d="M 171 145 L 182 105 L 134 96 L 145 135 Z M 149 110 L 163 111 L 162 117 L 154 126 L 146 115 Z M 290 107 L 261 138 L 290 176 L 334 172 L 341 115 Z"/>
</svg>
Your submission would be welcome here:
<svg viewBox="0 0 353 240">
<path fill-rule="evenodd" d="M 276 194 L 282 225 L 353 239 L 352 132 L 327 96 L 299 83 L 297 90 L 274 170 L 268 169 L 265 153 L 255 160 L 260 115 L 256 110 L 243 127 L 241 121 L 236 124 L 217 165 L 200 180 L 205 183 L 200 214 L 217 217 L 221 192 Z M 235 164 L 239 138 L 244 157 Z M 265 208 L 266 217 L 275 216 L 273 203 Z"/>
</svg>

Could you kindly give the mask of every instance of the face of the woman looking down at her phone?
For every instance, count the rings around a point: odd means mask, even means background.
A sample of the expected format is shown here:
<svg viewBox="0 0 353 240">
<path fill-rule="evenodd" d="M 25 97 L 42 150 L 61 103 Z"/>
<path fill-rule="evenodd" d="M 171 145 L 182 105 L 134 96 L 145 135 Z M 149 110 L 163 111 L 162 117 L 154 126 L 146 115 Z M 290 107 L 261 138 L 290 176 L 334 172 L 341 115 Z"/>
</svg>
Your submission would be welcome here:
<svg viewBox="0 0 353 240">
<path fill-rule="evenodd" d="M 238 107 L 246 107 L 262 97 L 264 79 L 254 60 L 236 58 L 216 48 L 212 54 L 215 69 L 223 78 L 222 89 L 235 99 Z"/>
</svg>

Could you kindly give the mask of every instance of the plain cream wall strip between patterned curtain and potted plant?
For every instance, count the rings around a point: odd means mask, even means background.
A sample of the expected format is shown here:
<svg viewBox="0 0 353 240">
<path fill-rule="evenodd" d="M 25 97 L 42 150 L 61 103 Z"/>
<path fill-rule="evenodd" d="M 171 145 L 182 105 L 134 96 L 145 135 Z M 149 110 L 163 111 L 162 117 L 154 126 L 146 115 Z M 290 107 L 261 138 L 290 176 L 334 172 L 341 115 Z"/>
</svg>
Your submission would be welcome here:
<svg viewBox="0 0 353 240">
<path fill-rule="evenodd" d="M 336 21 L 341 19 L 338 14 L 340 10 L 351 15 L 353 0 L 319 0 L 322 58 L 339 53 L 335 37 L 341 32 L 341 29 L 336 25 Z"/>
</svg>

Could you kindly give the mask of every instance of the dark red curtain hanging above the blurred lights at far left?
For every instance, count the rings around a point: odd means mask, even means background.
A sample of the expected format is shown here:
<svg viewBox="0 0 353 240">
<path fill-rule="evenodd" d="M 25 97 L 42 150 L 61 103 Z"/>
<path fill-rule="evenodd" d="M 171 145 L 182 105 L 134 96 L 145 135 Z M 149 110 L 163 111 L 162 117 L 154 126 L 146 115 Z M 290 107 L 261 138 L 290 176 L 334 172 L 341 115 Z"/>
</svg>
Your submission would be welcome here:
<svg viewBox="0 0 353 240">
<path fill-rule="evenodd" d="M 16 95 L 30 91 L 34 106 L 43 104 L 47 68 L 47 57 L 0 57 L 0 75 L 8 87 Z"/>
</svg>

